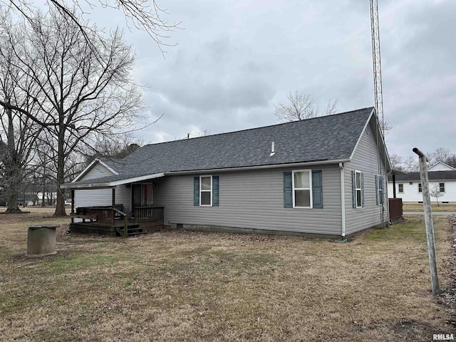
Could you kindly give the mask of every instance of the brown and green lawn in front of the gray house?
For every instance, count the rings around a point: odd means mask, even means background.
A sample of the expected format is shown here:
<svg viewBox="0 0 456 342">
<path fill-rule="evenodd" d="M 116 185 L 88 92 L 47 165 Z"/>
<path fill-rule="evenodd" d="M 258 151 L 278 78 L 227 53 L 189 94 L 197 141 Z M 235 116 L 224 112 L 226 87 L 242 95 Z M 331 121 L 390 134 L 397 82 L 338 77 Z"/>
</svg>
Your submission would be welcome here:
<svg viewBox="0 0 456 342">
<path fill-rule="evenodd" d="M 430 293 L 423 217 L 348 243 L 160 232 L 67 234 L 68 219 L 0 214 L 1 341 L 432 341 L 455 333 Z M 61 224 L 29 259 L 28 224 Z M 450 284 L 447 217 L 435 217 Z"/>
</svg>

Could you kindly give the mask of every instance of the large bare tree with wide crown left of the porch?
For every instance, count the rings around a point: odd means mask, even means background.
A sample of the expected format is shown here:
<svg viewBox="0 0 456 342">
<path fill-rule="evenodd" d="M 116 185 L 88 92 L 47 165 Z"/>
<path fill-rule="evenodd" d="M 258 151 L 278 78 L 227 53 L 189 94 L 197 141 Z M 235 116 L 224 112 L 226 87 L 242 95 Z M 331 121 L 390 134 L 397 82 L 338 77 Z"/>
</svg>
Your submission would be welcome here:
<svg viewBox="0 0 456 342">
<path fill-rule="evenodd" d="M 83 145 L 93 146 L 100 135 L 128 130 L 145 110 L 130 76 L 133 51 L 120 31 L 102 38 L 95 26 L 85 33 L 89 44 L 78 25 L 56 10 L 3 27 L 3 31 L 10 43 L 0 50 L 12 51 L 15 67 L 31 79 L 33 91 L 21 90 L 38 105 L 41 116 L 36 118 L 28 108 L 8 98 L 0 98 L 0 105 L 46 128 L 48 138 L 43 141 L 51 147 L 60 185 L 65 182 L 66 158 L 71 153 Z M 13 44 L 11 37 L 15 35 L 21 39 Z M 58 188 L 55 215 L 65 214 Z"/>
</svg>

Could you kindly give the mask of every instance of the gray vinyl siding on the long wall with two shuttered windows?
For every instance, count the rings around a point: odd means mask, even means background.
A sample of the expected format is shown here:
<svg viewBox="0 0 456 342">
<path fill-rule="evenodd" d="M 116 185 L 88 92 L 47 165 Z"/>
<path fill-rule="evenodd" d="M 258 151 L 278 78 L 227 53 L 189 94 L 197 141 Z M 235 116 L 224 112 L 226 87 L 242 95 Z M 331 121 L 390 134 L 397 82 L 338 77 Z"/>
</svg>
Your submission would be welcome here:
<svg viewBox="0 0 456 342">
<path fill-rule="evenodd" d="M 310 169 L 310 167 L 308 167 Z M 292 168 L 220 172 L 219 207 L 193 203 L 195 175 L 156 181 L 154 205 L 165 207 L 165 224 L 197 224 L 286 232 L 341 235 L 341 182 L 338 166 L 322 170 L 323 209 L 284 208 L 284 172 Z M 203 172 L 202 175 L 207 175 Z"/>
</svg>

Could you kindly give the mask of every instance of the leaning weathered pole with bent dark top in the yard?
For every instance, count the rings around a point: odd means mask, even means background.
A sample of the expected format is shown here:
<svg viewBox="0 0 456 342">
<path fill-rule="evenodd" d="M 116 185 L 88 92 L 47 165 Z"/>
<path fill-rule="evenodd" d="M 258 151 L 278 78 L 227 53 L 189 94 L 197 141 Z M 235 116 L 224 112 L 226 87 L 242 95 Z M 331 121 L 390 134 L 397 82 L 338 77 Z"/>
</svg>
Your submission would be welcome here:
<svg viewBox="0 0 456 342">
<path fill-rule="evenodd" d="M 434 224 L 432 222 L 432 209 L 430 207 L 429 179 L 427 177 L 427 157 L 423 152 L 414 147 L 413 152 L 420 156 L 420 178 L 423 192 L 423 207 L 425 209 L 425 225 L 427 239 L 427 254 L 429 254 L 430 283 L 432 294 L 440 294 L 439 277 L 437 274 L 437 259 L 435 257 Z"/>
</svg>

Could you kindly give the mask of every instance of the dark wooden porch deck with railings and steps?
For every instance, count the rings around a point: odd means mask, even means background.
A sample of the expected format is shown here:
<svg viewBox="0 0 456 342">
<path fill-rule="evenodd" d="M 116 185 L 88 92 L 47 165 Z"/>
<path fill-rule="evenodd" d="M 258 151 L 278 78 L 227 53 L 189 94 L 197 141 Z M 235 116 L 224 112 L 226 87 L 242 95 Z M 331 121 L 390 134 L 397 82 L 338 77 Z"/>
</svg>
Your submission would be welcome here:
<svg viewBox="0 0 456 342">
<path fill-rule="evenodd" d="M 109 237 L 157 232 L 164 227 L 163 212 L 163 207 L 140 207 L 133 217 L 128 217 L 116 207 L 80 207 L 71 214 L 70 232 Z M 74 222 L 75 219 L 81 222 Z"/>
</svg>

